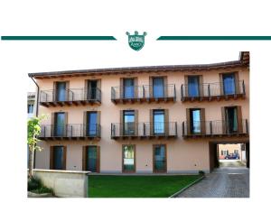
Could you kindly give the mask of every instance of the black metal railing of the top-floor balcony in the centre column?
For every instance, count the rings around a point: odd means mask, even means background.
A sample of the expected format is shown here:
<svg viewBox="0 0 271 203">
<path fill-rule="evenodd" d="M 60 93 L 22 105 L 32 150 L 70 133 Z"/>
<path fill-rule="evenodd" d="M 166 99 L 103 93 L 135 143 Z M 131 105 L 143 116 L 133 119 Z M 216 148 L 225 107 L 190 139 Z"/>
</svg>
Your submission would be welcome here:
<svg viewBox="0 0 271 203">
<path fill-rule="evenodd" d="M 164 85 L 155 90 L 154 86 L 131 86 L 131 87 L 112 87 L 112 99 L 132 99 L 132 98 L 164 98 L 176 97 L 176 88 L 174 84 Z"/>
</svg>

